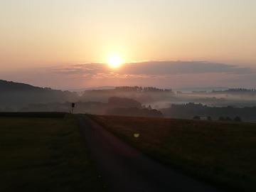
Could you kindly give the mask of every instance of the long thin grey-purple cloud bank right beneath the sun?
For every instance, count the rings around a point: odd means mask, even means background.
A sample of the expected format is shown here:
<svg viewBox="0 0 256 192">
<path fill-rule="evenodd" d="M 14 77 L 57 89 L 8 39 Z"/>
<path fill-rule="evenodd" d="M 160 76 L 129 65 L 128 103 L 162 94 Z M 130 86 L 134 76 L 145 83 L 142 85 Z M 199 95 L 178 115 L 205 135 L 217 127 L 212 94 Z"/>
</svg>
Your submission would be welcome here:
<svg viewBox="0 0 256 192">
<path fill-rule="evenodd" d="M 63 68 L 53 69 L 54 73 L 65 75 L 93 75 L 103 73 L 111 75 L 113 70 L 102 63 L 85 63 L 68 65 Z M 251 74 L 251 68 L 240 68 L 236 65 L 228 65 L 223 63 L 208 63 L 204 61 L 147 61 L 140 63 L 124 64 L 119 70 L 114 70 L 119 75 L 147 75 L 168 76 L 183 74 L 202 74 L 202 73 L 227 73 L 227 74 Z"/>
</svg>

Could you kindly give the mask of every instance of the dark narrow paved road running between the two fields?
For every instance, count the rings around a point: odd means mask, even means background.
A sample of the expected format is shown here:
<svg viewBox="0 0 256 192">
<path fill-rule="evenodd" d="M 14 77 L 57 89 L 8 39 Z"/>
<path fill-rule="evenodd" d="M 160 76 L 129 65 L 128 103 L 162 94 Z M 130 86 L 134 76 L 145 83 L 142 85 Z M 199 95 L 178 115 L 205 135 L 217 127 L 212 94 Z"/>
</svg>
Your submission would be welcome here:
<svg viewBox="0 0 256 192">
<path fill-rule="evenodd" d="M 151 160 L 89 117 L 80 115 L 78 118 L 107 191 L 220 191 Z"/>
</svg>

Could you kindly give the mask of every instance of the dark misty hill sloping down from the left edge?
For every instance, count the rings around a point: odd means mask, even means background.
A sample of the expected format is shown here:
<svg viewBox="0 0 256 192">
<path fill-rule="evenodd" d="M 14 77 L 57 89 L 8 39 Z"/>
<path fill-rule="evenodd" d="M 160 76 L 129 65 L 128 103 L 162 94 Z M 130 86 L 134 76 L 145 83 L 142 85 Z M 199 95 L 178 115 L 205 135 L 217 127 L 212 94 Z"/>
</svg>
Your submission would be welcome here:
<svg viewBox="0 0 256 192">
<path fill-rule="evenodd" d="M 0 80 L 0 111 L 16 111 L 20 107 L 34 103 L 75 102 L 75 92 L 52 90 L 51 88 Z"/>
</svg>

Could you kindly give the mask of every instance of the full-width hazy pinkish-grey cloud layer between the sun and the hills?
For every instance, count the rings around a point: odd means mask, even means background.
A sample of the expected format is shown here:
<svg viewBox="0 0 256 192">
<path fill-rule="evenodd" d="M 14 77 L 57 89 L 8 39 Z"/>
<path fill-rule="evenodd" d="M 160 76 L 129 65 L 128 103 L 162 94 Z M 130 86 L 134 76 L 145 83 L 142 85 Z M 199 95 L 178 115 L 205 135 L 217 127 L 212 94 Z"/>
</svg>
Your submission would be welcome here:
<svg viewBox="0 0 256 192">
<path fill-rule="evenodd" d="M 253 68 L 203 61 L 127 63 L 113 70 L 102 63 L 75 63 L 1 73 L 1 78 L 42 87 L 66 89 L 141 85 L 155 87 L 255 87 Z"/>
</svg>

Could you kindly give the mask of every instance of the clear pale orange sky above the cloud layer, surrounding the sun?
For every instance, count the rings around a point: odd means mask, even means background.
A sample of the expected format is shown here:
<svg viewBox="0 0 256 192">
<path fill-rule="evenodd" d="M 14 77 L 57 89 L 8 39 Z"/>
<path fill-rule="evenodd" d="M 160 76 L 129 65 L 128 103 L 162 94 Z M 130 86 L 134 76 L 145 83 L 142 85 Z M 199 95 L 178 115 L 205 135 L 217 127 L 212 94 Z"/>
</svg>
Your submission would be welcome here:
<svg viewBox="0 0 256 192">
<path fill-rule="evenodd" d="M 107 63 L 113 54 L 125 63 L 199 60 L 253 69 L 255 7 L 254 0 L 2 0 L 0 75 Z"/>
</svg>

